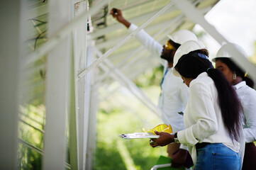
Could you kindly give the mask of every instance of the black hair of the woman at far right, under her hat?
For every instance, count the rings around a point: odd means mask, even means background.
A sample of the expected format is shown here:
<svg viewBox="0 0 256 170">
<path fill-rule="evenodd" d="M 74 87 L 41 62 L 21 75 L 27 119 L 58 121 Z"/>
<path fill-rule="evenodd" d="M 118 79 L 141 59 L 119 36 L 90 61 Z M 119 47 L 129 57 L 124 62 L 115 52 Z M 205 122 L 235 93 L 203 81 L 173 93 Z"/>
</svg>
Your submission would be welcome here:
<svg viewBox="0 0 256 170">
<path fill-rule="evenodd" d="M 227 57 L 219 57 L 216 58 L 216 61 L 220 60 L 221 62 L 223 62 L 224 64 L 226 64 L 228 66 L 228 68 L 232 71 L 235 72 L 237 77 L 241 77 L 243 79 L 243 81 L 246 82 L 247 86 L 250 86 L 251 88 L 253 88 L 254 86 L 254 81 L 252 79 L 250 79 L 250 77 L 248 77 L 247 75 L 245 75 L 245 71 L 243 71 L 243 69 L 240 69 L 240 67 L 238 67 L 237 64 L 235 64 L 235 62 L 233 62 L 232 60 L 230 60 L 230 58 Z"/>
</svg>

